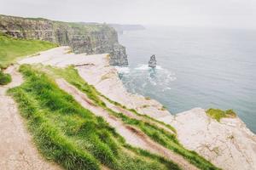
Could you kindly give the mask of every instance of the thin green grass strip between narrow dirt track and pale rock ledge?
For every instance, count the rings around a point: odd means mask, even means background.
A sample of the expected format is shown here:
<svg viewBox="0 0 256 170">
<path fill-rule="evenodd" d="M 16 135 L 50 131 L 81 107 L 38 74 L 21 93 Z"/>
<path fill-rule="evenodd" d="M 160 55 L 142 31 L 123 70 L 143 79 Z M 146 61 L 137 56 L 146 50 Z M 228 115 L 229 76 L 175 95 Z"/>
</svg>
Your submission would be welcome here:
<svg viewBox="0 0 256 170">
<path fill-rule="evenodd" d="M 175 135 L 176 130 L 171 125 L 166 125 L 165 123 L 159 122 L 149 116 L 140 115 L 137 113 L 137 111 L 132 109 L 127 109 L 125 108 L 124 105 L 120 105 L 118 102 L 114 102 L 111 99 L 106 98 L 105 96 L 97 92 L 96 88 L 94 88 L 93 86 L 90 86 L 87 82 L 84 82 L 84 80 L 81 77 L 79 77 L 78 72 L 72 66 L 69 66 L 66 69 L 60 69 L 60 68 L 54 68 L 54 67 L 48 67 L 48 69 L 54 72 L 59 77 L 65 78 L 67 82 L 73 84 L 75 87 L 79 88 L 79 90 L 87 94 L 87 96 L 90 99 L 92 99 L 92 101 L 94 101 L 96 105 L 101 106 L 113 116 L 118 117 L 119 119 L 121 119 L 121 121 L 125 122 L 125 124 L 138 127 L 140 130 L 143 131 L 143 133 L 147 134 L 149 138 L 165 146 L 167 149 L 172 150 L 177 154 L 183 156 L 185 159 L 187 159 L 190 163 L 194 164 L 196 167 L 199 167 L 201 169 L 218 169 L 218 167 L 215 167 L 214 165 L 212 165 L 210 161 L 207 161 L 203 157 L 199 156 L 195 151 L 186 150 L 182 144 L 179 144 Z M 108 99 L 108 101 L 113 103 L 114 105 L 119 105 L 122 108 L 133 112 L 137 116 L 143 116 L 147 121 L 137 120 L 129 116 L 125 116 L 123 113 L 116 113 L 108 109 L 106 104 L 102 102 L 102 100 L 98 97 L 99 95 L 101 95 L 105 99 Z M 169 129 L 171 129 L 174 134 L 166 132 L 166 130 L 158 127 L 156 123 L 165 125 Z"/>
</svg>

